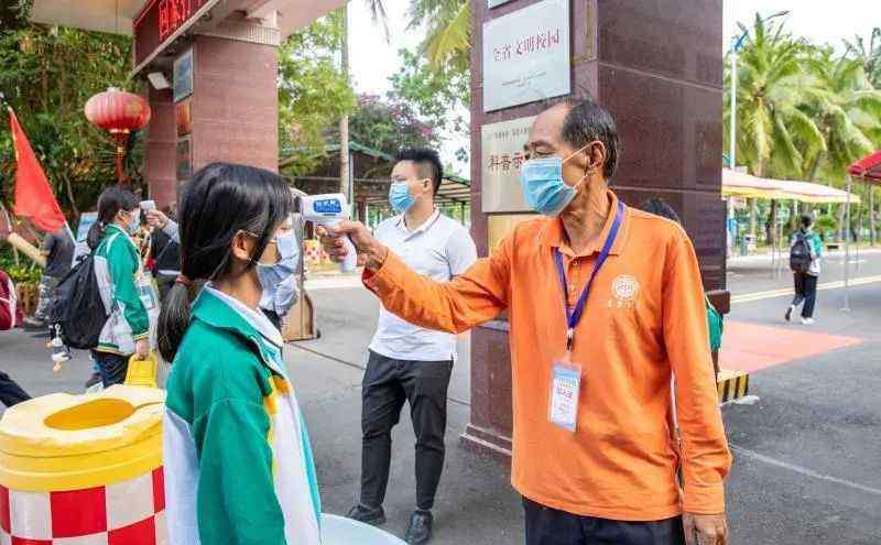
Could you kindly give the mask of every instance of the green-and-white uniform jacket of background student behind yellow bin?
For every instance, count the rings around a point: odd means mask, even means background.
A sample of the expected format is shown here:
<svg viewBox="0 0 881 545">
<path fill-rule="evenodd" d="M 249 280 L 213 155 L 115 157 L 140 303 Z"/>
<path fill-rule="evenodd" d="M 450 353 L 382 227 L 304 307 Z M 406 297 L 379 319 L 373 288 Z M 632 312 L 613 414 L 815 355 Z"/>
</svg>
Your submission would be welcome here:
<svg viewBox="0 0 881 545">
<path fill-rule="evenodd" d="M 95 249 L 95 277 L 108 314 L 96 350 L 134 353 L 134 342 L 155 331 L 159 304 L 152 277 L 141 266 L 138 247 L 115 225 L 107 226 Z"/>
</svg>

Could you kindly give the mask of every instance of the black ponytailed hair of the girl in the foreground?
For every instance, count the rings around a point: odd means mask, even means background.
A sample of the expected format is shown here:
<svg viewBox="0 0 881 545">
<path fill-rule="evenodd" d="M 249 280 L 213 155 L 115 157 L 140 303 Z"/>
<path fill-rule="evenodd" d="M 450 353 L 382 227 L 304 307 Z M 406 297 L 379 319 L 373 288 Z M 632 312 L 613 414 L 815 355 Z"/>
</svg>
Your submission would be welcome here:
<svg viewBox="0 0 881 545">
<path fill-rule="evenodd" d="M 187 183 L 177 209 L 181 276 L 165 295 L 159 316 L 157 344 L 172 362 L 189 327 L 189 306 L 202 283 L 229 274 L 232 240 L 239 232 L 255 237 L 253 255 L 265 250 L 275 230 L 294 212 L 287 182 L 253 166 L 214 163 Z M 252 260 L 248 268 L 254 266 Z"/>
</svg>

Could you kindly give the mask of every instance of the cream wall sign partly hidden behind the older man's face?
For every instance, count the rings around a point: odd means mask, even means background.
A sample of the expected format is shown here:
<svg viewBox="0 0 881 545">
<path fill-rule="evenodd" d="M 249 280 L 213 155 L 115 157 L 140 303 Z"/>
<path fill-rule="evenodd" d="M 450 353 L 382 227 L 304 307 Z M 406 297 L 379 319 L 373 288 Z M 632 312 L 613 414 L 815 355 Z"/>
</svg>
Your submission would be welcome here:
<svg viewBox="0 0 881 545">
<path fill-rule="evenodd" d="M 534 117 L 512 119 L 485 124 L 480 129 L 482 142 L 482 210 L 485 212 L 527 211 L 520 188 L 520 165 L 523 164 L 523 144 L 529 140 Z"/>
</svg>

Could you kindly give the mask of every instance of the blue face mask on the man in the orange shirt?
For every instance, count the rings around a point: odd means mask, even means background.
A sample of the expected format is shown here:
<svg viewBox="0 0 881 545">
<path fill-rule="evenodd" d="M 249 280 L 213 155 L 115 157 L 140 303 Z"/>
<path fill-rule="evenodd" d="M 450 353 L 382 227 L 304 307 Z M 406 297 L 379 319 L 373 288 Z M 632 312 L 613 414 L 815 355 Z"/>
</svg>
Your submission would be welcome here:
<svg viewBox="0 0 881 545">
<path fill-rule="evenodd" d="M 578 185 L 573 187 L 563 181 L 563 163 L 566 161 L 559 157 L 546 157 L 523 162 L 520 166 L 520 185 L 530 208 L 539 214 L 553 217 L 558 216 L 569 206 L 578 193 Z"/>
</svg>

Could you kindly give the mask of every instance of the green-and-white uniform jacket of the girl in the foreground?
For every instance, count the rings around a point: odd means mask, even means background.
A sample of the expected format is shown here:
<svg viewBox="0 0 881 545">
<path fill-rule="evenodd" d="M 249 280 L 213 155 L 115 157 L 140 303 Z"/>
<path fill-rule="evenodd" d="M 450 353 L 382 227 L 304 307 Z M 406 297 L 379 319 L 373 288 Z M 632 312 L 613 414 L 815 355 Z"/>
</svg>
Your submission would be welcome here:
<svg viewBox="0 0 881 545">
<path fill-rule="evenodd" d="M 166 382 L 170 543 L 317 545 L 312 448 L 262 314 L 207 285 Z"/>
</svg>

